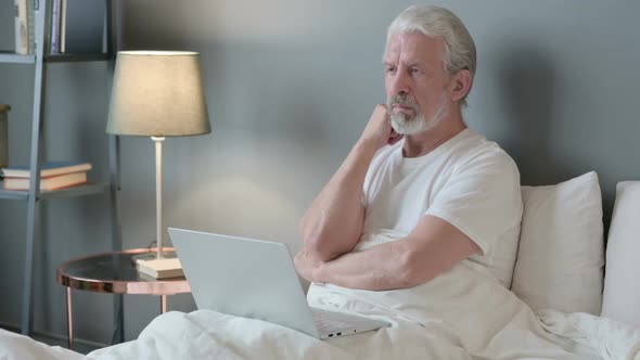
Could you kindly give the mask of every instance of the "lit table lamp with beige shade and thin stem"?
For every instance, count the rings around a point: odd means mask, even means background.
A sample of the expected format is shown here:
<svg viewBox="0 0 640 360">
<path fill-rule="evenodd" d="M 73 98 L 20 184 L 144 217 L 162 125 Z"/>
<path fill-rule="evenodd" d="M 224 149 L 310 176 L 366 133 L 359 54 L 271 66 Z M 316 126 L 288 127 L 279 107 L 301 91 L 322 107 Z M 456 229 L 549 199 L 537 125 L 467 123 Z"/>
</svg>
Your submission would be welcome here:
<svg viewBox="0 0 640 360">
<path fill-rule="evenodd" d="M 151 137 L 155 143 L 156 260 L 165 259 L 163 141 L 212 131 L 201 73 L 196 52 L 119 51 L 116 57 L 106 132 Z"/>
</svg>

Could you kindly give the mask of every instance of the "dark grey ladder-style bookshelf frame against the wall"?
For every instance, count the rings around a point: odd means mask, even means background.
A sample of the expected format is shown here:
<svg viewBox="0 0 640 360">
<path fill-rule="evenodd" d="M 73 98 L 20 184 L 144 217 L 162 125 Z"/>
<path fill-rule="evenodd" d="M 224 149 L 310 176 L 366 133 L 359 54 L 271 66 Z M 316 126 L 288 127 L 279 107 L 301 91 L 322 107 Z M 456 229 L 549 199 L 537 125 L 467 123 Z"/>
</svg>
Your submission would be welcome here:
<svg viewBox="0 0 640 360">
<path fill-rule="evenodd" d="M 47 54 L 44 50 L 44 39 L 47 36 L 46 16 L 50 13 L 53 0 L 40 0 L 39 12 L 37 12 L 36 23 L 36 48 L 35 54 L 21 55 L 15 53 L 0 52 L 0 65 L 9 64 L 27 64 L 34 68 L 34 93 L 33 93 L 33 112 L 31 112 L 31 136 L 30 136 L 30 154 L 29 168 L 31 173 L 40 173 L 43 154 L 42 130 L 46 123 L 46 80 L 47 64 L 50 63 L 69 63 L 69 62 L 88 62 L 88 61 L 107 61 L 112 69 L 115 60 L 115 36 L 114 29 L 116 22 L 113 16 L 115 13 L 115 0 L 105 0 L 106 2 L 106 53 L 101 54 Z M 107 99 L 105 99 L 107 101 Z M 106 114 L 105 114 L 106 116 Z M 107 137 L 106 133 L 104 133 Z M 118 217 L 118 192 L 119 192 L 119 139 L 116 136 L 108 136 L 108 167 L 110 178 L 104 182 L 88 183 L 79 187 L 61 189 L 56 191 L 40 192 L 40 178 L 33 176 L 29 182 L 28 191 L 7 191 L 0 188 L 0 200 L 25 201 L 26 210 L 26 242 L 25 242 L 25 261 L 23 279 L 23 298 L 22 298 L 22 319 L 21 331 L 25 335 L 31 335 L 33 327 L 33 306 L 34 306 L 34 244 L 38 239 L 36 234 L 39 222 L 36 219 L 36 209 L 41 201 L 54 200 L 61 197 L 103 195 L 108 196 L 108 211 L 112 224 L 112 249 L 121 250 L 121 231 Z M 123 298 L 114 297 L 114 313 L 119 324 L 115 338 L 124 339 L 123 329 Z"/>
</svg>

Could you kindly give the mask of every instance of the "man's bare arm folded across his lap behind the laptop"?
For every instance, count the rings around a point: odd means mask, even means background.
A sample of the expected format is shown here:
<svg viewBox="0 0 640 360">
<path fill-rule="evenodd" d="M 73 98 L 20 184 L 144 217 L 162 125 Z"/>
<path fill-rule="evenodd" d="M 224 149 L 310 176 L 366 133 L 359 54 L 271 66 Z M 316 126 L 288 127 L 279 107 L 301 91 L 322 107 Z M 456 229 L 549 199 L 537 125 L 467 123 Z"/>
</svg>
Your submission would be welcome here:
<svg viewBox="0 0 640 360">
<path fill-rule="evenodd" d="M 373 291 L 412 287 L 479 250 L 456 227 L 426 215 L 405 239 L 309 266 L 311 279 L 307 280 Z"/>
</svg>

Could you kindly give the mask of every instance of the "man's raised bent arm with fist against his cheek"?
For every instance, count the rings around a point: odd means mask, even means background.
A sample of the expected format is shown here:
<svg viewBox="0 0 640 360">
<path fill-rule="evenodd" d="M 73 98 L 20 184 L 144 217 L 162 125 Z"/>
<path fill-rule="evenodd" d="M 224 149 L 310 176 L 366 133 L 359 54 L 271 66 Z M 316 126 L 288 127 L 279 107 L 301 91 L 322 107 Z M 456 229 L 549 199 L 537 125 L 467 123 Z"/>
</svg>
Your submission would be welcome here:
<svg viewBox="0 0 640 360">
<path fill-rule="evenodd" d="M 386 106 L 377 105 L 362 136 L 300 221 L 305 257 L 329 261 L 356 246 L 364 219 L 360 197 L 367 169 L 379 149 L 398 140 Z"/>
</svg>

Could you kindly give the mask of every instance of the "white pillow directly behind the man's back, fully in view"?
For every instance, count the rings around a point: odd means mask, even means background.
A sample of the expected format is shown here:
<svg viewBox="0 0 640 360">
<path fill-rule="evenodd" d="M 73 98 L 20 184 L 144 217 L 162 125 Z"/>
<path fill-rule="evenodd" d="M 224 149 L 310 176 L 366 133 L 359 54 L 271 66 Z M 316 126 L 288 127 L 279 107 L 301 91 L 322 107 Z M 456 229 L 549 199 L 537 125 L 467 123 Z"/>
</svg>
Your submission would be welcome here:
<svg viewBox="0 0 640 360">
<path fill-rule="evenodd" d="M 512 291 L 534 310 L 600 314 L 604 242 L 598 175 L 522 187 L 522 196 Z"/>
</svg>

